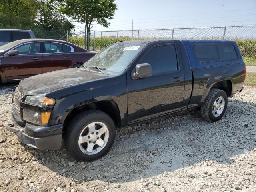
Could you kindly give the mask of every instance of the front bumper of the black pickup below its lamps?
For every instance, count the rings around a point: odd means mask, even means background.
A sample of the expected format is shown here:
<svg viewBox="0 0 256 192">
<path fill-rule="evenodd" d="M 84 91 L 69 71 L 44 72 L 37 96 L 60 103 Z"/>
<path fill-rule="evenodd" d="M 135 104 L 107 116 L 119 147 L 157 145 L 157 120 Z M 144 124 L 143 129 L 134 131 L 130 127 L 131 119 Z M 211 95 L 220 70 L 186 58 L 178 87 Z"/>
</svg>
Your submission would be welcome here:
<svg viewBox="0 0 256 192">
<path fill-rule="evenodd" d="M 16 133 L 20 142 L 38 149 L 57 150 L 62 144 L 62 124 L 53 126 L 38 126 L 33 124 L 24 124 L 20 126 L 22 120 L 12 108 L 13 124 L 6 124 L 6 128 Z"/>
</svg>

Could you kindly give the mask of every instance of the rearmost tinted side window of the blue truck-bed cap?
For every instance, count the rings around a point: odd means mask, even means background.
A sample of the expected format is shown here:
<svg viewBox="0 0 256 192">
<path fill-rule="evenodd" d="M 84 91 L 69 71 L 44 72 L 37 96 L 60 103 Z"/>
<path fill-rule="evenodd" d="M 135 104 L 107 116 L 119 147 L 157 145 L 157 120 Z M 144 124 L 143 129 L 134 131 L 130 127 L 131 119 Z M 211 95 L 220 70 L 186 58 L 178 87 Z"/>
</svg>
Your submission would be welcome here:
<svg viewBox="0 0 256 192">
<path fill-rule="evenodd" d="M 237 58 L 236 50 L 233 45 L 219 44 L 218 51 L 220 60 L 235 60 Z"/>
</svg>

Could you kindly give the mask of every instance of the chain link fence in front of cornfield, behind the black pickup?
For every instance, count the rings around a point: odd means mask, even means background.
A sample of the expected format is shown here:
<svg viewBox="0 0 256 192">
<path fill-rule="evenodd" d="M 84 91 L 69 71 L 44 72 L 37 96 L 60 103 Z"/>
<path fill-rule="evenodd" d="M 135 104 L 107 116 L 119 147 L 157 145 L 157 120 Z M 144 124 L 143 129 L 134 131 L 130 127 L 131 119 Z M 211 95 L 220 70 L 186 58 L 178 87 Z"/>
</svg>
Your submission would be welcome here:
<svg viewBox="0 0 256 192">
<path fill-rule="evenodd" d="M 143 39 L 234 40 L 245 63 L 256 66 L 256 25 L 91 32 L 90 49 L 102 50 L 120 40 Z M 84 40 L 80 42 L 83 43 L 79 45 L 84 46 Z"/>
</svg>

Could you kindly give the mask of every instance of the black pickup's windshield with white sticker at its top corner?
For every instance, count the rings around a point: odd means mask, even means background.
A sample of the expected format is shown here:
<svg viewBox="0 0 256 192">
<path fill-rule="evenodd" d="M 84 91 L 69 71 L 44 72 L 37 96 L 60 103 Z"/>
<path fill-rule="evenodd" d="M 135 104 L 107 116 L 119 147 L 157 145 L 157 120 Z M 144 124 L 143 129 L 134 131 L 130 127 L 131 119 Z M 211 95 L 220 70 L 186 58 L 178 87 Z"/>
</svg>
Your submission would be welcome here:
<svg viewBox="0 0 256 192">
<path fill-rule="evenodd" d="M 113 44 L 96 54 L 83 66 L 100 68 L 108 73 L 119 74 L 130 64 L 144 46 L 142 44 L 130 43 Z"/>
</svg>

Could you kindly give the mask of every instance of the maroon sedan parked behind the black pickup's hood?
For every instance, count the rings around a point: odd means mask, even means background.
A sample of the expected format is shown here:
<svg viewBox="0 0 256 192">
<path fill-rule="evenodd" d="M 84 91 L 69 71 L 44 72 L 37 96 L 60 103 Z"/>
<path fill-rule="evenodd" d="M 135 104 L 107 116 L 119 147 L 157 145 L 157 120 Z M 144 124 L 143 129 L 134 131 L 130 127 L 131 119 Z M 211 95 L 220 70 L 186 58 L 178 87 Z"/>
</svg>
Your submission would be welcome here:
<svg viewBox="0 0 256 192">
<path fill-rule="evenodd" d="M 10 42 L 0 47 L 0 80 L 6 83 L 79 67 L 95 54 L 61 40 L 24 39 Z"/>
</svg>

